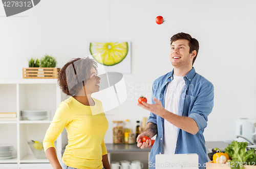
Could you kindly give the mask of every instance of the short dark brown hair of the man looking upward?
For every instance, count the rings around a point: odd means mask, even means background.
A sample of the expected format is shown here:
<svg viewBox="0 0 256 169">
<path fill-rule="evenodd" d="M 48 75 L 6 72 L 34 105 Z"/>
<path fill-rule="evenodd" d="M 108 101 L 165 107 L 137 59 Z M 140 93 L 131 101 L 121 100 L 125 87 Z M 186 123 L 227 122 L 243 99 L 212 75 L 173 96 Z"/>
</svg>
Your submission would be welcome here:
<svg viewBox="0 0 256 169">
<path fill-rule="evenodd" d="M 174 36 L 172 36 L 170 38 L 170 45 L 172 45 L 173 42 L 179 40 L 179 39 L 186 39 L 189 41 L 188 45 L 189 45 L 189 53 L 191 54 L 194 50 L 196 50 L 197 54 L 198 54 L 198 51 L 199 51 L 199 42 L 197 39 L 191 37 L 189 34 L 186 34 L 186 33 L 177 33 L 175 34 Z M 193 59 L 193 63 L 192 65 L 194 64 L 195 60 L 197 58 L 197 55 L 194 57 Z"/>
</svg>

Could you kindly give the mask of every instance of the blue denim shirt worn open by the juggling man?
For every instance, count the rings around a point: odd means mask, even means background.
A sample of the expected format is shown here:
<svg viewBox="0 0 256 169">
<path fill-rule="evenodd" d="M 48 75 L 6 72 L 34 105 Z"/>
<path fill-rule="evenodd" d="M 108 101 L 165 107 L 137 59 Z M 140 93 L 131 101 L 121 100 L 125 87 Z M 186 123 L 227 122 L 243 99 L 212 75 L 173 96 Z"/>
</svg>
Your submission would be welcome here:
<svg viewBox="0 0 256 169">
<path fill-rule="evenodd" d="M 154 81 L 152 104 L 155 104 L 153 98 L 156 97 L 164 107 L 165 93 L 168 83 L 173 80 L 173 71 Z M 185 85 L 180 94 L 178 115 L 193 118 L 198 125 L 199 131 L 193 135 L 178 128 L 175 154 L 197 153 L 199 156 L 199 168 L 201 169 L 205 168 L 204 163 L 208 162 L 203 132 L 207 126 L 207 116 L 214 107 L 214 86 L 207 79 L 197 74 L 194 67 L 183 79 Z M 148 163 L 150 169 L 153 169 L 156 165 L 156 155 L 163 152 L 164 118 L 151 112 L 148 122 L 157 124 L 158 130 Z"/>
</svg>

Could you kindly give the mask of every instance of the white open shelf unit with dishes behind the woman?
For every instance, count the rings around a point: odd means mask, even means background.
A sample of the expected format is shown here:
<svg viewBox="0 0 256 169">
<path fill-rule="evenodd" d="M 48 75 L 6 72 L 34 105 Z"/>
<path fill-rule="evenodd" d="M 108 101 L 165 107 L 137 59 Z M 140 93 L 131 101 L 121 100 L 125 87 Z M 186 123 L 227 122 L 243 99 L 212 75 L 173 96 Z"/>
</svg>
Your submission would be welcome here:
<svg viewBox="0 0 256 169">
<path fill-rule="evenodd" d="M 44 139 L 54 114 L 43 120 L 27 120 L 20 113 L 22 110 L 55 112 L 60 102 L 65 99 L 67 97 L 57 86 L 57 79 L 0 80 L 0 112 L 17 112 L 15 121 L 0 120 L 0 143 L 12 144 L 17 150 L 17 158 L 0 160 L 0 168 L 1 164 L 6 165 L 4 163 L 17 163 L 17 168 L 23 163 L 49 163 L 48 159 L 36 159 L 27 142 L 31 139 Z M 57 138 L 55 147 L 59 160 L 61 149 L 67 143 L 67 134 L 65 131 L 62 133 Z"/>
</svg>

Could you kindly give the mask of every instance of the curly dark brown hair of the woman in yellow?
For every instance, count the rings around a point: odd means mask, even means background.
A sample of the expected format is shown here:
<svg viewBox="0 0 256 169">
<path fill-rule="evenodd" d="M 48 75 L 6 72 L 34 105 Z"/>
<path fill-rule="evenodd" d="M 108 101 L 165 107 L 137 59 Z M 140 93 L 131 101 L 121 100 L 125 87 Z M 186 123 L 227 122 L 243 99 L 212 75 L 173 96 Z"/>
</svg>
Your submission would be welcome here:
<svg viewBox="0 0 256 169">
<path fill-rule="evenodd" d="M 87 80 L 90 79 L 92 66 L 98 74 L 98 66 L 93 59 L 89 57 L 71 59 L 60 69 L 57 85 L 63 93 L 75 95 L 83 87 L 83 83 L 86 85 Z"/>
</svg>

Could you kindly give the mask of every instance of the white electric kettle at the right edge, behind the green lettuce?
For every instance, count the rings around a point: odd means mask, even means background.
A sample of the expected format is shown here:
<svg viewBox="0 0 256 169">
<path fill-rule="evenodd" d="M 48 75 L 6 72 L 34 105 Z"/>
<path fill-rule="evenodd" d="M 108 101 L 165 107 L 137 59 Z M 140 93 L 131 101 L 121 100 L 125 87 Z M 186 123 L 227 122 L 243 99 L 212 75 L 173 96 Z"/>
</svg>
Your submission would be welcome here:
<svg viewBox="0 0 256 169">
<path fill-rule="evenodd" d="M 236 120 L 236 140 L 239 142 L 254 142 L 254 135 L 256 135 L 253 123 L 247 118 L 240 118 Z M 239 137 L 241 136 L 241 137 Z M 242 138 L 244 137 L 244 138 Z"/>
</svg>

